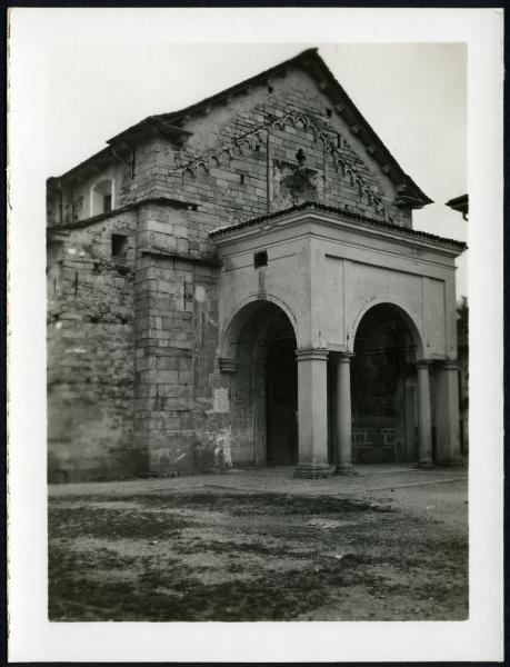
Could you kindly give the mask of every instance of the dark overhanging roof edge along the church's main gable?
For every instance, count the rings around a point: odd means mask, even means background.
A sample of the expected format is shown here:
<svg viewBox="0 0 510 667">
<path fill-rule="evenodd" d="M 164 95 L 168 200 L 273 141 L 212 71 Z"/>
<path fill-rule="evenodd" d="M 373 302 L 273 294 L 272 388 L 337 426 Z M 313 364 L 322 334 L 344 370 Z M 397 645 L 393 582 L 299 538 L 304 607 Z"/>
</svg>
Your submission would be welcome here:
<svg viewBox="0 0 510 667">
<path fill-rule="evenodd" d="M 354 102 L 350 99 L 340 83 L 331 73 L 330 69 L 318 53 L 318 49 L 308 49 L 298 56 L 281 62 L 246 81 L 241 81 L 236 86 L 228 88 L 217 94 L 201 100 L 194 104 L 190 104 L 179 111 L 162 113 L 159 116 L 149 116 L 139 123 L 128 128 L 127 130 L 116 135 L 108 140 L 107 143 L 112 149 L 121 149 L 124 146 L 131 146 L 144 137 L 150 135 L 163 133 L 172 137 L 177 142 L 186 140 L 189 132 L 182 127 L 186 121 L 194 113 L 202 113 L 216 103 L 223 103 L 229 97 L 246 91 L 251 86 L 264 81 L 269 81 L 272 77 L 284 74 L 290 68 L 301 68 L 306 70 L 318 83 L 318 88 L 327 94 L 336 111 L 341 115 L 344 121 L 349 125 L 356 136 L 366 143 L 370 149 L 372 157 L 380 163 L 384 173 L 399 188 L 399 195 L 408 200 L 410 208 L 421 208 L 432 200 L 417 186 L 392 157 L 384 143 L 379 139 L 377 133 L 370 127 L 369 122 L 363 118 Z M 89 160 L 82 162 L 79 167 L 71 169 L 60 178 L 67 178 L 80 168 L 89 166 L 96 160 L 104 159 L 104 150 L 100 151 Z"/>
</svg>

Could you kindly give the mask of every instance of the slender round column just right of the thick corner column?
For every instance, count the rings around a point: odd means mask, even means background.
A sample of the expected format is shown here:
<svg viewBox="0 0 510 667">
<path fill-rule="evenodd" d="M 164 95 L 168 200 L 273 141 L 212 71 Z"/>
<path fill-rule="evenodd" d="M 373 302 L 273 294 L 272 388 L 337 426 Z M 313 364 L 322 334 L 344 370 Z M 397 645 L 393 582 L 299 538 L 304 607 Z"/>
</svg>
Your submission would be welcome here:
<svg viewBox="0 0 510 667">
<path fill-rule="evenodd" d="M 337 470 L 338 475 L 352 472 L 351 372 L 352 355 L 337 355 Z"/>
</svg>

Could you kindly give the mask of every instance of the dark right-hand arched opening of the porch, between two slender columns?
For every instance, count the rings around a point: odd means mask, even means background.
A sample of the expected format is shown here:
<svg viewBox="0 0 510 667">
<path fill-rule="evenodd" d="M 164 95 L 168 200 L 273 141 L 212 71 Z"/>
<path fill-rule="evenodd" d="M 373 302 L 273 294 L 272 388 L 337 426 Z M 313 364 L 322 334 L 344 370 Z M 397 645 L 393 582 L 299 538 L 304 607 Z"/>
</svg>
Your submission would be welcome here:
<svg viewBox="0 0 510 667">
<path fill-rule="evenodd" d="M 351 362 L 354 464 L 417 460 L 417 350 L 398 307 L 380 303 L 361 318 Z"/>
</svg>

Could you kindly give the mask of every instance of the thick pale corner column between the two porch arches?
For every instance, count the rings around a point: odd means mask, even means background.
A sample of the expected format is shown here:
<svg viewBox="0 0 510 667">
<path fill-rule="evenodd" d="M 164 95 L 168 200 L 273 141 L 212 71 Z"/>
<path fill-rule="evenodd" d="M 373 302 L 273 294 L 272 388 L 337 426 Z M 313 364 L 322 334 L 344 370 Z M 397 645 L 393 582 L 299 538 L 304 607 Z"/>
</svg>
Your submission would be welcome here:
<svg viewBox="0 0 510 667">
<path fill-rule="evenodd" d="M 328 465 L 328 350 L 303 348 L 298 358 L 298 425 L 299 459 L 296 477 L 327 477 L 332 475 Z"/>
</svg>

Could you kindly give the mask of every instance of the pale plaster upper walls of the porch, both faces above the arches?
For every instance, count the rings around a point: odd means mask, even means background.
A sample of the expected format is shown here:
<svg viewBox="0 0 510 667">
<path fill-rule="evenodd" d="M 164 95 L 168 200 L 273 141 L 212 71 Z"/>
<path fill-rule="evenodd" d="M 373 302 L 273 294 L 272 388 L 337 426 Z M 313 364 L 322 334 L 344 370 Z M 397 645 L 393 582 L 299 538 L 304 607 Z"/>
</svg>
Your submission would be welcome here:
<svg viewBox="0 0 510 667">
<path fill-rule="evenodd" d="M 253 253 L 268 251 L 263 288 Z M 221 246 L 220 330 L 243 305 L 267 298 L 290 315 L 298 347 L 352 351 L 361 317 L 393 303 L 408 317 L 424 358 L 456 358 L 454 259 L 420 247 L 321 221 L 267 227 Z"/>
</svg>

